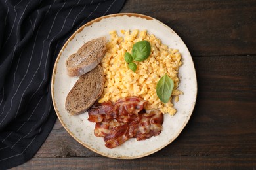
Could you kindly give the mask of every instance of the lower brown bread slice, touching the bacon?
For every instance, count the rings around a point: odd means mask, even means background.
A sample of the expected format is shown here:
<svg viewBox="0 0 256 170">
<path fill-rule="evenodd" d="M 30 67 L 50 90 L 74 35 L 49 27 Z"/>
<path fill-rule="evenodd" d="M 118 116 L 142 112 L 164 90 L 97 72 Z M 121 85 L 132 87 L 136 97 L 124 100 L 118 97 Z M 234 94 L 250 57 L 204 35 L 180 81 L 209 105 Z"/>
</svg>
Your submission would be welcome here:
<svg viewBox="0 0 256 170">
<path fill-rule="evenodd" d="M 104 80 L 104 71 L 100 65 L 81 75 L 66 97 L 66 110 L 77 115 L 89 109 L 102 94 Z"/>
</svg>

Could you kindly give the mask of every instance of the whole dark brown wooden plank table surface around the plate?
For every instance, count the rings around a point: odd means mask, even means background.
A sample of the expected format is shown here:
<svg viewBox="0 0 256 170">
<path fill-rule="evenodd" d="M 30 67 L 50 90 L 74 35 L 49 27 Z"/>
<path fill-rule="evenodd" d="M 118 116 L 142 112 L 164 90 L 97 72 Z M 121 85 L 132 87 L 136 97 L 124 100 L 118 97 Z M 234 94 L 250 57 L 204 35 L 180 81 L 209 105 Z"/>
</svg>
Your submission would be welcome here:
<svg viewBox="0 0 256 170">
<path fill-rule="evenodd" d="M 127 0 L 121 12 L 171 27 L 192 54 L 196 107 L 181 135 L 135 160 L 105 158 L 77 143 L 57 120 L 17 169 L 256 169 L 256 1 Z"/>
</svg>

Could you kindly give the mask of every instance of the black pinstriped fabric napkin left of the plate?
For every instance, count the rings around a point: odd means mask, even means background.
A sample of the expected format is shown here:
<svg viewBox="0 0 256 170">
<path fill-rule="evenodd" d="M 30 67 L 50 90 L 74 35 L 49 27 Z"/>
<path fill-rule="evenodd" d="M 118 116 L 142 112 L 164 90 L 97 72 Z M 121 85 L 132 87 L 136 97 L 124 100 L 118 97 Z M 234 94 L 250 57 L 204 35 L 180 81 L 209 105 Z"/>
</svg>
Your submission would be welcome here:
<svg viewBox="0 0 256 170">
<path fill-rule="evenodd" d="M 0 0 L 0 169 L 30 160 L 53 128 L 51 76 L 64 42 L 124 3 Z"/>
</svg>

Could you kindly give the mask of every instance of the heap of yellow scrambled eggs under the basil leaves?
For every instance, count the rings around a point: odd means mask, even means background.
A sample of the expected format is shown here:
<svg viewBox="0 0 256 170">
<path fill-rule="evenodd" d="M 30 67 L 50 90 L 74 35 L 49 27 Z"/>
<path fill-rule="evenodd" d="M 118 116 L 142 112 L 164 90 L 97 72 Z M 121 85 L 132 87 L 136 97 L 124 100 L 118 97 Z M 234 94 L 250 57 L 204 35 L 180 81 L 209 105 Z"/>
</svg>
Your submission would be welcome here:
<svg viewBox="0 0 256 170">
<path fill-rule="evenodd" d="M 175 84 L 171 98 L 175 97 L 174 101 L 179 101 L 179 95 L 182 94 L 177 89 L 179 86 L 177 74 L 182 65 L 179 50 L 161 44 L 160 39 L 146 30 L 121 30 L 121 34 L 123 36 L 117 35 L 116 31 L 110 31 L 111 39 L 100 63 L 104 69 L 106 82 L 99 102 L 116 102 L 121 97 L 138 96 L 148 101 L 146 110 L 158 109 L 163 113 L 174 115 L 177 110 L 173 108 L 171 99 L 165 104 L 156 95 L 156 84 L 161 76 L 167 73 Z M 125 52 L 131 53 L 135 42 L 142 40 L 150 42 L 151 54 L 145 61 L 135 61 L 137 70 L 134 73 L 127 67 L 124 56 Z"/>
</svg>

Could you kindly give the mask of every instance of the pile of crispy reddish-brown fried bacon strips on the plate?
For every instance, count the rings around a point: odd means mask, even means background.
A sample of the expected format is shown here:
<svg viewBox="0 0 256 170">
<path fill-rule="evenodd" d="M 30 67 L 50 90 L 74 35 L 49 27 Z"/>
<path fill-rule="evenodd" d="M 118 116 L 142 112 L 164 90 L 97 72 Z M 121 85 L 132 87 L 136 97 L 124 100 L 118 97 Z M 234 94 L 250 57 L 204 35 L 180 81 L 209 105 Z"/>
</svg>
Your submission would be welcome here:
<svg viewBox="0 0 256 170">
<path fill-rule="evenodd" d="M 163 114 L 159 110 L 146 113 L 145 103 L 140 97 L 123 97 L 114 105 L 95 103 L 88 110 L 88 120 L 96 122 L 95 136 L 103 137 L 106 147 L 115 148 L 130 138 L 140 141 L 159 135 Z"/>
</svg>

